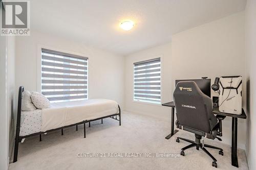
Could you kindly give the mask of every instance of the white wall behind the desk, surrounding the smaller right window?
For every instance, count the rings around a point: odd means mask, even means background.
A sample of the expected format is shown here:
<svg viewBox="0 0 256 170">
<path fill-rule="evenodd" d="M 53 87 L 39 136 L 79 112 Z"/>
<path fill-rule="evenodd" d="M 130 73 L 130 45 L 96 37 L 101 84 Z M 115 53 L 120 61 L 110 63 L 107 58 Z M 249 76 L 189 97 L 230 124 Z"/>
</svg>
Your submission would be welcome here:
<svg viewBox="0 0 256 170">
<path fill-rule="evenodd" d="M 171 47 L 172 46 L 172 47 Z M 125 57 L 125 109 L 170 121 L 170 108 L 133 102 L 133 63 L 163 55 L 162 103 L 172 101 L 176 79 L 244 77 L 244 13 L 206 23 L 172 36 L 167 43 Z M 245 85 L 245 84 L 244 84 Z M 215 95 L 212 91 L 212 95 Z M 246 120 L 239 120 L 238 147 L 245 148 Z M 231 118 L 223 123 L 223 141 L 231 144 Z"/>
</svg>

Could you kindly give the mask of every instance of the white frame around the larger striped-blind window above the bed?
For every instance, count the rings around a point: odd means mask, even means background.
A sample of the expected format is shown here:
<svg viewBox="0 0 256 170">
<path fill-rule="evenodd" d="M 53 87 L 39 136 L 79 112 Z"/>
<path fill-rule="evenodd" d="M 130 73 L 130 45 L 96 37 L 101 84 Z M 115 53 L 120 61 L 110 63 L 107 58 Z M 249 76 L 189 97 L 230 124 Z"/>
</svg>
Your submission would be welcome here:
<svg viewBox="0 0 256 170">
<path fill-rule="evenodd" d="M 46 45 L 37 45 L 37 91 L 41 93 L 41 50 L 42 48 L 87 58 L 87 99 L 86 100 L 89 100 L 89 57 L 87 57 L 84 54 L 61 50 L 59 48 L 53 48 Z"/>
</svg>

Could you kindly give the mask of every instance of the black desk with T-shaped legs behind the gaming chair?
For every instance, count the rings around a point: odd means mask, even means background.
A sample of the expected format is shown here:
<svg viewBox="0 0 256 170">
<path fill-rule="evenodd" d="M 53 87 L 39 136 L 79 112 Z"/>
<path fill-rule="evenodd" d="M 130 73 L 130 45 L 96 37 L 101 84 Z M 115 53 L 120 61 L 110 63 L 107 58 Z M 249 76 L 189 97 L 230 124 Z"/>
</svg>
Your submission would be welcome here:
<svg viewBox="0 0 256 170">
<path fill-rule="evenodd" d="M 172 120 L 171 120 L 171 131 L 170 134 L 165 137 L 165 139 L 169 139 L 172 137 L 178 130 L 174 130 L 174 102 L 168 102 L 162 104 L 162 106 L 172 107 Z M 232 117 L 232 145 L 231 145 L 231 164 L 233 166 L 238 167 L 238 156 L 237 156 L 237 148 L 238 148 L 238 118 L 246 118 L 246 114 L 244 109 L 242 109 L 242 114 L 230 114 L 230 113 L 223 113 L 219 111 L 219 108 L 214 108 L 212 110 L 214 114 L 230 116 Z"/>
</svg>

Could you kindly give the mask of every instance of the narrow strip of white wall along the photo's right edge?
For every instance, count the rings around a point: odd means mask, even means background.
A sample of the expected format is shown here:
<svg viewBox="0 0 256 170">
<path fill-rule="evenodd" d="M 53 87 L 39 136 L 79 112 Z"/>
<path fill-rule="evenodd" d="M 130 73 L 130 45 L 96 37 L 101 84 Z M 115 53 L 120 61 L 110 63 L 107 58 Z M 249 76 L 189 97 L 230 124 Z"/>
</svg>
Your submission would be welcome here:
<svg viewBox="0 0 256 170">
<path fill-rule="evenodd" d="M 246 152 L 250 169 L 256 169 L 256 1 L 247 0 L 245 8 L 245 56 L 246 56 L 246 87 L 247 87 L 247 138 Z"/>
</svg>

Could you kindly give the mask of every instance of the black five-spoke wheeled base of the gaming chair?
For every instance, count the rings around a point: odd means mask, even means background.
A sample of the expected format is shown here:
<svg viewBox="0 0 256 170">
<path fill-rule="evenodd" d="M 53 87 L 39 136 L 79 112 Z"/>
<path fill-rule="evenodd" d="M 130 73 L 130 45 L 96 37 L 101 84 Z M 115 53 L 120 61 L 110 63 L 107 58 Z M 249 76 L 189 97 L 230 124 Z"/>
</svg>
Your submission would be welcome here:
<svg viewBox="0 0 256 170">
<path fill-rule="evenodd" d="M 189 149 L 189 148 L 196 147 L 197 150 L 199 150 L 199 148 L 200 148 L 208 156 L 211 157 L 211 159 L 212 159 L 212 164 L 211 165 L 214 166 L 214 167 L 217 167 L 217 159 L 214 156 L 212 156 L 205 148 L 217 149 L 217 150 L 219 150 L 219 154 L 222 155 L 222 156 L 223 156 L 223 149 L 215 147 L 215 146 L 212 146 L 212 145 L 209 145 L 209 144 L 204 144 L 203 145 L 201 143 L 202 136 L 195 134 L 195 137 L 196 137 L 195 141 L 189 140 L 189 139 L 185 139 L 185 138 L 182 138 L 182 137 L 177 137 L 176 142 L 180 142 L 180 140 L 184 140 L 184 141 L 187 141 L 187 142 L 191 143 L 191 144 L 189 144 L 186 147 L 181 149 L 180 155 L 185 156 L 184 151 Z"/>
</svg>

